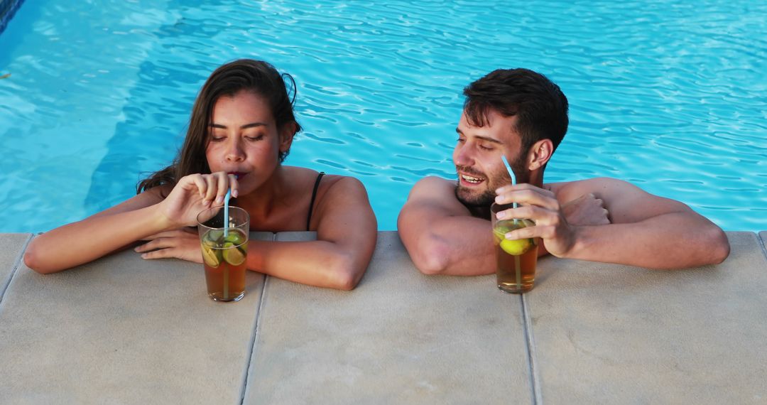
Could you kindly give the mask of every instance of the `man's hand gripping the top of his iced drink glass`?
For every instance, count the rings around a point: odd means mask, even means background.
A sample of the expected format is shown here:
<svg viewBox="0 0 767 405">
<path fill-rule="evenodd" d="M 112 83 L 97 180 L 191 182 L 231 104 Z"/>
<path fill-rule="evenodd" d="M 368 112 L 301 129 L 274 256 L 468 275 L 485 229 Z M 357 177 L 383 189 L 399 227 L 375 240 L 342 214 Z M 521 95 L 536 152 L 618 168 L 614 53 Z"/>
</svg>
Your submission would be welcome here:
<svg viewBox="0 0 767 405">
<path fill-rule="evenodd" d="M 507 232 L 506 239 L 541 238 L 546 250 L 557 257 L 564 257 L 572 249 L 577 230 L 565 219 L 565 211 L 554 193 L 527 183 L 503 186 L 495 193 L 498 194 L 495 202 L 499 204 L 518 204 L 517 208 L 498 212 L 498 219 L 532 219 L 535 222 L 535 226 Z"/>
</svg>

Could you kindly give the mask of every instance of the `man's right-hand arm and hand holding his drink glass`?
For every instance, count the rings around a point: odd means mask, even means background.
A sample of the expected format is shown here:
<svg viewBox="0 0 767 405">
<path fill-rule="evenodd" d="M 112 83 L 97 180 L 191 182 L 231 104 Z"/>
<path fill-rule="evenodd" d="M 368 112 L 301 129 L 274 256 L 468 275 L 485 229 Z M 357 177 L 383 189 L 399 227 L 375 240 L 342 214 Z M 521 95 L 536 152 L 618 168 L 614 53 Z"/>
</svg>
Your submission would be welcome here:
<svg viewBox="0 0 767 405">
<path fill-rule="evenodd" d="M 540 236 L 552 255 L 646 268 L 687 268 L 723 262 L 727 236 L 708 219 L 673 199 L 644 192 L 617 179 L 589 179 L 563 186 L 559 193 L 593 193 L 604 200 L 611 224 L 573 226 L 556 199 L 529 185 L 499 189 L 500 199 L 521 202 L 516 209 L 536 226 L 514 231 L 512 239 Z M 512 210 L 509 210 L 512 211 Z M 528 235 L 530 233 L 530 235 Z"/>
</svg>

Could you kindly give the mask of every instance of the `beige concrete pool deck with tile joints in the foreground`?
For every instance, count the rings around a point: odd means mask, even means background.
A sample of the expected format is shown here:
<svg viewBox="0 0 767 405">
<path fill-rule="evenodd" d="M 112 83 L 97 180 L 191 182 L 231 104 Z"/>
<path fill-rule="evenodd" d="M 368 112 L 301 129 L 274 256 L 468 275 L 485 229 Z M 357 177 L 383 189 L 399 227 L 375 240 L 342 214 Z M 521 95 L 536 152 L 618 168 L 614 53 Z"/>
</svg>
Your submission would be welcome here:
<svg viewBox="0 0 767 405">
<path fill-rule="evenodd" d="M 767 232 L 670 272 L 543 258 L 533 291 L 421 275 L 379 232 L 354 291 L 133 251 L 54 275 L 0 234 L 3 403 L 767 403 Z M 305 240 L 312 232 L 253 233 Z"/>
</svg>

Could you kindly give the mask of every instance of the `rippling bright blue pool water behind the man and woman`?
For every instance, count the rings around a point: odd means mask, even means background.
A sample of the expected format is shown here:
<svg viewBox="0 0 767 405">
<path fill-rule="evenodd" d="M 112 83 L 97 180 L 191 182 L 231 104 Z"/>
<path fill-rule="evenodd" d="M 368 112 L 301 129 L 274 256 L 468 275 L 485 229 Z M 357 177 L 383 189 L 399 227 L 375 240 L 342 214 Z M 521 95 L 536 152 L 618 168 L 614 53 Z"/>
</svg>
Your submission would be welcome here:
<svg viewBox="0 0 767 405">
<path fill-rule="evenodd" d="M 486 2 L 491 4 L 492 2 Z M 767 229 L 767 3 L 27 1 L 0 34 L 0 232 L 127 199 L 170 163 L 219 64 L 298 83 L 287 164 L 357 176 L 379 229 L 450 153 L 470 81 L 529 67 L 571 127 L 549 182 L 612 176 Z"/>
</svg>

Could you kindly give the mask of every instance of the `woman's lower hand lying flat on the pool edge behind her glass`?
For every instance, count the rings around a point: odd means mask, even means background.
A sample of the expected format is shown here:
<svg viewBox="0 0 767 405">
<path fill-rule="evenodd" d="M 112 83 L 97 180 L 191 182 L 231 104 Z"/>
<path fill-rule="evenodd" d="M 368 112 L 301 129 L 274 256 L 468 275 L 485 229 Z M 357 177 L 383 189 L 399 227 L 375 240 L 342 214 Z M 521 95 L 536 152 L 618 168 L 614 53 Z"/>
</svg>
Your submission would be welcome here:
<svg viewBox="0 0 767 405">
<path fill-rule="evenodd" d="M 176 229 L 150 235 L 149 241 L 136 247 L 141 258 L 180 258 L 189 262 L 202 263 L 199 235 L 193 228 Z"/>
</svg>

